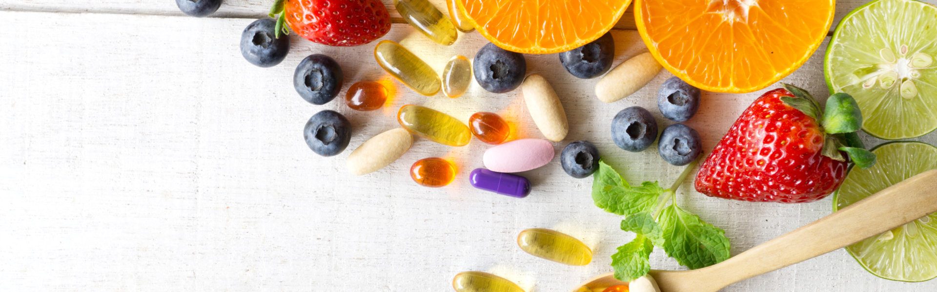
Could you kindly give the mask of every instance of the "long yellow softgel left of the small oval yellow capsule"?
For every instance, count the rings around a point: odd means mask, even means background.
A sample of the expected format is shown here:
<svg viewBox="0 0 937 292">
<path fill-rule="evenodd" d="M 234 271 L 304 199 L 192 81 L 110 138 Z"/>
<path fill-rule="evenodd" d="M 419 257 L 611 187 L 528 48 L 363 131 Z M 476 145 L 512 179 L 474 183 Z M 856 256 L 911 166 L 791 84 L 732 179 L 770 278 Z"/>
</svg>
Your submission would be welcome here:
<svg viewBox="0 0 937 292">
<path fill-rule="evenodd" d="M 439 92 L 441 82 L 436 70 L 393 40 L 381 40 L 374 47 L 374 58 L 387 73 L 416 93 L 431 96 Z"/>
</svg>

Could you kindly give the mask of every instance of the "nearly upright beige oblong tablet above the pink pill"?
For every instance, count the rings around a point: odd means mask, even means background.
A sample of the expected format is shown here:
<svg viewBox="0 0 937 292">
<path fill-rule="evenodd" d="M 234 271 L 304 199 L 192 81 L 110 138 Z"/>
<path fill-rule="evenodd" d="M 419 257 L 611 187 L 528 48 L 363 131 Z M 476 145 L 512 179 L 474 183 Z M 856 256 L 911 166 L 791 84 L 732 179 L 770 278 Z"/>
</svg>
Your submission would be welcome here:
<svg viewBox="0 0 937 292">
<path fill-rule="evenodd" d="M 551 141 L 560 141 L 570 132 L 566 122 L 566 112 L 559 103 L 557 92 L 553 91 L 550 83 L 543 76 L 531 74 L 521 84 L 524 103 L 528 105 L 530 118 L 533 124 L 543 133 L 543 137 Z"/>
</svg>

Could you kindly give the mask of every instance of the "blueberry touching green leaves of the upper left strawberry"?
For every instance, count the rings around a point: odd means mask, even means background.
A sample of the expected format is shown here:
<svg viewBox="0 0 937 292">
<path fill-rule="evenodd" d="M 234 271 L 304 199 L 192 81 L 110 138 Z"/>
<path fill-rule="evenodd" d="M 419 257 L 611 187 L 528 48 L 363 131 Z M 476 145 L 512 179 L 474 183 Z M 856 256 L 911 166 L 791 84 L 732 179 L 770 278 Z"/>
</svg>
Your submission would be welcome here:
<svg viewBox="0 0 937 292">
<path fill-rule="evenodd" d="M 269 67 L 283 62 L 290 52 L 290 37 L 276 37 L 276 21 L 260 19 L 245 27 L 241 33 L 241 55 L 250 64 Z"/>
</svg>

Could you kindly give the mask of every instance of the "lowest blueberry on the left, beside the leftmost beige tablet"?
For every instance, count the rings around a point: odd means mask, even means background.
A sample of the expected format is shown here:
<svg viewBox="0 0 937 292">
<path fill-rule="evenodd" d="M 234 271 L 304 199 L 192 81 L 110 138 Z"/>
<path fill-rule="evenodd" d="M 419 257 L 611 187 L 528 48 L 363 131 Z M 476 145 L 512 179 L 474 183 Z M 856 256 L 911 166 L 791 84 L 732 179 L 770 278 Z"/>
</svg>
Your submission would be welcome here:
<svg viewBox="0 0 937 292">
<path fill-rule="evenodd" d="M 305 144 L 312 152 L 334 156 L 349 147 L 351 123 L 335 110 L 322 110 L 312 115 L 303 131 Z"/>
</svg>

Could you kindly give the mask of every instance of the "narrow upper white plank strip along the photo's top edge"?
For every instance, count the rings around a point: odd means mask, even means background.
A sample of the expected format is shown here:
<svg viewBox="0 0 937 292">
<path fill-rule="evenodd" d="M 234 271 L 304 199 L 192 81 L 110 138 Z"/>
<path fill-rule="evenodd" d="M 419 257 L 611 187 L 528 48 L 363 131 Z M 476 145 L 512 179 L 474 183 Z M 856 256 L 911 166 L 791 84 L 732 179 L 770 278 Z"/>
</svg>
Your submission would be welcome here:
<svg viewBox="0 0 937 292">
<path fill-rule="evenodd" d="M 445 0 L 429 0 L 444 14 L 448 15 Z M 860 7 L 867 0 L 840 0 L 837 1 L 836 16 L 830 31 L 836 28 L 840 19 L 846 16 L 849 11 Z M 924 0 L 931 4 L 937 4 L 937 0 Z M 394 4 L 390 0 L 384 0 L 384 4 L 391 13 L 394 22 L 403 22 L 400 14 L 396 12 Z M 260 18 L 267 14 L 273 0 L 225 0 L 218 8 L 213 17 L 231 17 L 231 18 Z M 632 6 L 633 7 L 633 6 Z M 615 25 L 619 29 L 635 29 L 634 13 L 632 7 L 628 8 L 625 15 Z M 176 7 L 175 2 L 171 0 L 98 0 L 98 1 L 73 1 L 73 0 L 2 0 L 0 1 L 0 10 L 14 11 L 45 11 L 45 12 L 99 12 L 99 13 L 124 13 L 124 14 L 153 14 L 153 15 L 183 15 Z"/>
</svg>

